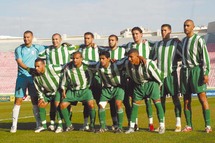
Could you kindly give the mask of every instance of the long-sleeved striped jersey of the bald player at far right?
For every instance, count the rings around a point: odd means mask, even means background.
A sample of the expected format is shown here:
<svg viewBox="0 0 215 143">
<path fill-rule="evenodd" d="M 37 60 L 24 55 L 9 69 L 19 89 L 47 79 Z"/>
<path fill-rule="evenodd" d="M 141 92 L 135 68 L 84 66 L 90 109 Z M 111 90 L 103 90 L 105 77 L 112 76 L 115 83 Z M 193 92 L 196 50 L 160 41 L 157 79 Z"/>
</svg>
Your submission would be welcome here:
<svg viewBox="0 0 215 143">
<path fill-rule="evenodd" d="M 185 37 L 182 43 L 182 65 L 188 68 L 201 66 L 204 75 L 208 75 L 210 72 L 210 58 L 205 40 L 194 34 L 190 38 Z"/>
</svg>

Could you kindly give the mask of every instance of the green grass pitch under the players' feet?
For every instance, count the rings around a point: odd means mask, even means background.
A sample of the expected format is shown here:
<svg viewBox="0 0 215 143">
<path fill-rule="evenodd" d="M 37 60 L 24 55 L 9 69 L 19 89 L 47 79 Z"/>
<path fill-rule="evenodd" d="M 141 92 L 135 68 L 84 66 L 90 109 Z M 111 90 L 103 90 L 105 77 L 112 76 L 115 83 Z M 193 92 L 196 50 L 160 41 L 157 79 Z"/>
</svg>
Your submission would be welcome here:
<svg viewBox="0 0 215 143">
<path fill-rule="evenodd" d="M 211 122 L 212 128 L 215 129 L 215 97 L 208 98 L 211 108 Z M 12 116 L 12 102 L 0 102 L 0 143 L 212 143 L 215 142 L 215 132 L 206 134 L 204 132 L 204 121 L 202 116 L 202 110 L 198 99 L 195 97 L 192 101 L 193 110 L 193 126 L 194 131 L 189 133 L 175 133 L 175 117 L 173 112 L 173 104 L 169 99 L 166 103 L 166 132 L 165 134 L 158 134 L 155 132 L 148 132 L 148 119 L 145 112 L 145 105 L 142 104 L 139 108 L 139 127 L 140 131 L 132 134 L 114 134 L 113 132 L 105 132 L 101 134 L 95 134 L 91 132 L 78 131 L 83 123 L 82 105 L 73 107 L 73 125 L 77 129 L 76 131 L 63 132 L 56 134 L 50 131 L 44 131 L 41 133 L 34 133 L 34 118 L 32 117 L 32 106 L 30 102 L 23 102 L 21 106 L 20 119 L 18 121 L 18 130 L 15 134 L 9 132 L 11 127 Z M 48 111 L 48 110 L 47 110 Z M 110 119 L 109 108 L 106 110 L 107 125 L 112 125 Z M 158 126 L 158 120 L 153 108 L 154 125 Z M 49 117 L 47 116 L 47 120 Z M 49 121 L 49 120 L 48 120 Z M 96 127 L 99 128 L 98 117 L 96 119 Z M 185 125 L 184 115 L 182 113 L 182 126 Z M 126 116 L 124 117 L 124 128 L 127 129 Z"/>
</svg>

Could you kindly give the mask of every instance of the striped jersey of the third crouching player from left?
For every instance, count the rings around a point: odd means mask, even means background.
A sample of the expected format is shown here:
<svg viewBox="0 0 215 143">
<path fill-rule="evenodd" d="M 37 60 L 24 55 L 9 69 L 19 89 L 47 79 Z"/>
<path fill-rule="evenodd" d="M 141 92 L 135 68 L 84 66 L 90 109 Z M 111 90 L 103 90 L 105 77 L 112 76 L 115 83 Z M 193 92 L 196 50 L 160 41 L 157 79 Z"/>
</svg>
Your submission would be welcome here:
<svg viewBox="0 0 215 143">
<path fill-rule="evenodd" d="M 89 63 L 89 69 L 93 70 L 93 72 L 98 72 L 102 87 L 120 86 L 120 69 L 122 69 L 121 63 L 118 64 L 118 62 L 110 62 L 107 68 L 102 67 L 100 62 Z"/>
</svg>

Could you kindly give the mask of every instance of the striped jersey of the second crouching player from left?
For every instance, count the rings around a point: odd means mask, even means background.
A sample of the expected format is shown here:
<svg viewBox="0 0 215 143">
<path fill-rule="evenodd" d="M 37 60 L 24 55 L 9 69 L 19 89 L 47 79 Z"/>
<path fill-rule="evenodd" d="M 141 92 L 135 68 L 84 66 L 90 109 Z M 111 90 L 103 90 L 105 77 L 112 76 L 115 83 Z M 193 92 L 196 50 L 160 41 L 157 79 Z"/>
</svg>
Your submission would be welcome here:
<svg viewBox="0 0 215 143">
<path fill-rule="evenodd" d="M 71 62 L 64 69 L 61 88 L 71 90 L 86 89 L 90 87 L 92 77 L 93 73 L 86 64 L 82 64 L 81 67 L 77 68 Z"/>
</svg>

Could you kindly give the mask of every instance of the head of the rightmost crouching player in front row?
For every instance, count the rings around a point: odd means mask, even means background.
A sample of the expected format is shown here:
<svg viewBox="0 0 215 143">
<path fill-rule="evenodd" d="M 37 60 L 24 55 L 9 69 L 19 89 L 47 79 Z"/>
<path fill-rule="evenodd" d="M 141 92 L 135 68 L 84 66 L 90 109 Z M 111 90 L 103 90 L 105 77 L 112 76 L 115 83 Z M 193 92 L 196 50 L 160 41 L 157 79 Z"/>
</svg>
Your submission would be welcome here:
<svg viewBox="0 0 215 143">
<path fill-rule="evenodd" d="M 128 51 L 128 60 L 134 65 L 138 65 L 140 63 L 139 52 L 137 49 L 131 49 Z"/>
</svg>

